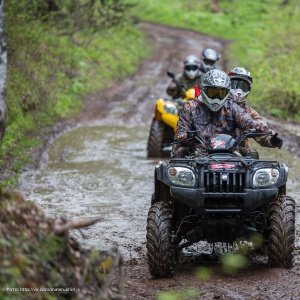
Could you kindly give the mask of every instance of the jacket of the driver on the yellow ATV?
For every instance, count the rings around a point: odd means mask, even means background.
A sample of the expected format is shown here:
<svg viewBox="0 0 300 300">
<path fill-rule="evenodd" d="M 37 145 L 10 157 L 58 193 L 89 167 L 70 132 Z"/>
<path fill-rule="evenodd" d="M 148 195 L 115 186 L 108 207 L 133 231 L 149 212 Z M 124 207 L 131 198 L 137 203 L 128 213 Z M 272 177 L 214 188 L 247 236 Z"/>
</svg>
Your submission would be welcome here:
<svg viewBox="0 0 300 300">
<path fill-rule="evenodd" d="M 198 85 L 200 87 L 202 76 L 204 73 L 199 72 L 194 79 L 188 78 L 185 73 L 179 73 L 175 76 L 175 80 L 172 80 L 172 82 L 167 87 L 167 94 L 172 96 L 173 98 L 180 98 L 184 97 L 185 95 L 182 93 L 182 90 L 176 84 L 178 82 L 185 90 L 194 88 L 195 85 Z"/>
</svg>

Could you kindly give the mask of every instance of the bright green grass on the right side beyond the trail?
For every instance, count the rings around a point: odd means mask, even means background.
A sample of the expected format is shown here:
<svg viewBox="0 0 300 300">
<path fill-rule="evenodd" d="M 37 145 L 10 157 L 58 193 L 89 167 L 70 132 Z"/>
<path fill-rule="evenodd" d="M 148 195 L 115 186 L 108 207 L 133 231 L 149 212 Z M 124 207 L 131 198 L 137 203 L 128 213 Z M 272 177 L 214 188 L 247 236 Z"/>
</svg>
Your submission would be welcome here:
<svg viewBox="0 0 300 300">
<path fill-rule="evenodd" d="M 232 40 L 226 70 L 243 66 L 254 82 L 251 105 L 300 121 L 300 4 L 297 0 L 128 0 L 140 20 Z M 194 53 L 200 55 L 199 53 Z"/>
</svg>

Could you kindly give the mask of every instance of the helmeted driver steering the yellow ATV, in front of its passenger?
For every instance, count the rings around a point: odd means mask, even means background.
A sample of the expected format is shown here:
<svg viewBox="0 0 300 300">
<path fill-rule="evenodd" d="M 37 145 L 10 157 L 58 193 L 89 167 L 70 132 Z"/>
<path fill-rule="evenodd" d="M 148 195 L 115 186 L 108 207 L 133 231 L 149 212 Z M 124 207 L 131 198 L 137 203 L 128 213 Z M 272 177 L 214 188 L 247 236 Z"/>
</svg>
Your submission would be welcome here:
<svg viewBox="0 0 300 300">
<path fill-rule="evenodd" d="M 167 94 L 172 98 L 185 96 L 185 91 L 201 83 L 200 60 L 195 55 L 187 56 L 183 61 L 183 72 L 178 73 L 167 87 Z"/>
</svg>

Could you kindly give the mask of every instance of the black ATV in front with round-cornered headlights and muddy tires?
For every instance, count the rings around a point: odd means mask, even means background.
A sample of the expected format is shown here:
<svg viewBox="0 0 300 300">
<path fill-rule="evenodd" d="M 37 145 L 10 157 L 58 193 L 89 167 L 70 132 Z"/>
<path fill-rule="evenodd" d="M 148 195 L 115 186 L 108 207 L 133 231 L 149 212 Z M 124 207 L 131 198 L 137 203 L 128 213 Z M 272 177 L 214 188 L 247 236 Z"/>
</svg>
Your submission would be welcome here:
<svg viewBox="0 0 300 300">
<path fill-rule="evenodd" d="M 295 201 L 286 195 L 287 166 L 275 160 L 242 157 L 242 132 L 208 141 L 188 132 L 205 152 L 183 148 L 182 158 L 160 161 L 147 218 L 147 258 L 153 277 L 176 273 L 179 251 L 199 241 L 235 243 L 260 234 L 272 267 L 291 268 L 295 244 Z"/>
</svg>

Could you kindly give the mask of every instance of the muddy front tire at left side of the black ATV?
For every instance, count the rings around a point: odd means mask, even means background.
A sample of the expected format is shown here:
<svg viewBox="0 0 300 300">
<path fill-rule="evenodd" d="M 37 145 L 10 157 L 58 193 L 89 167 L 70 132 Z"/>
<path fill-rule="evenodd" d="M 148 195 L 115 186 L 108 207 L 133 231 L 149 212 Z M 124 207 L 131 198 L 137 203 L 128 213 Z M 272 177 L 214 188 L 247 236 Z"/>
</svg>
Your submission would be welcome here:
<svg viewBox="0 0 300 300">
<path fill-rule="evenodd" d="M 147 218 L 147 259 L 154 278 L 176 274 L 176 247 L 172 244 L 172 207 L 164 202 L 154 203 Z"/>
</svg>

